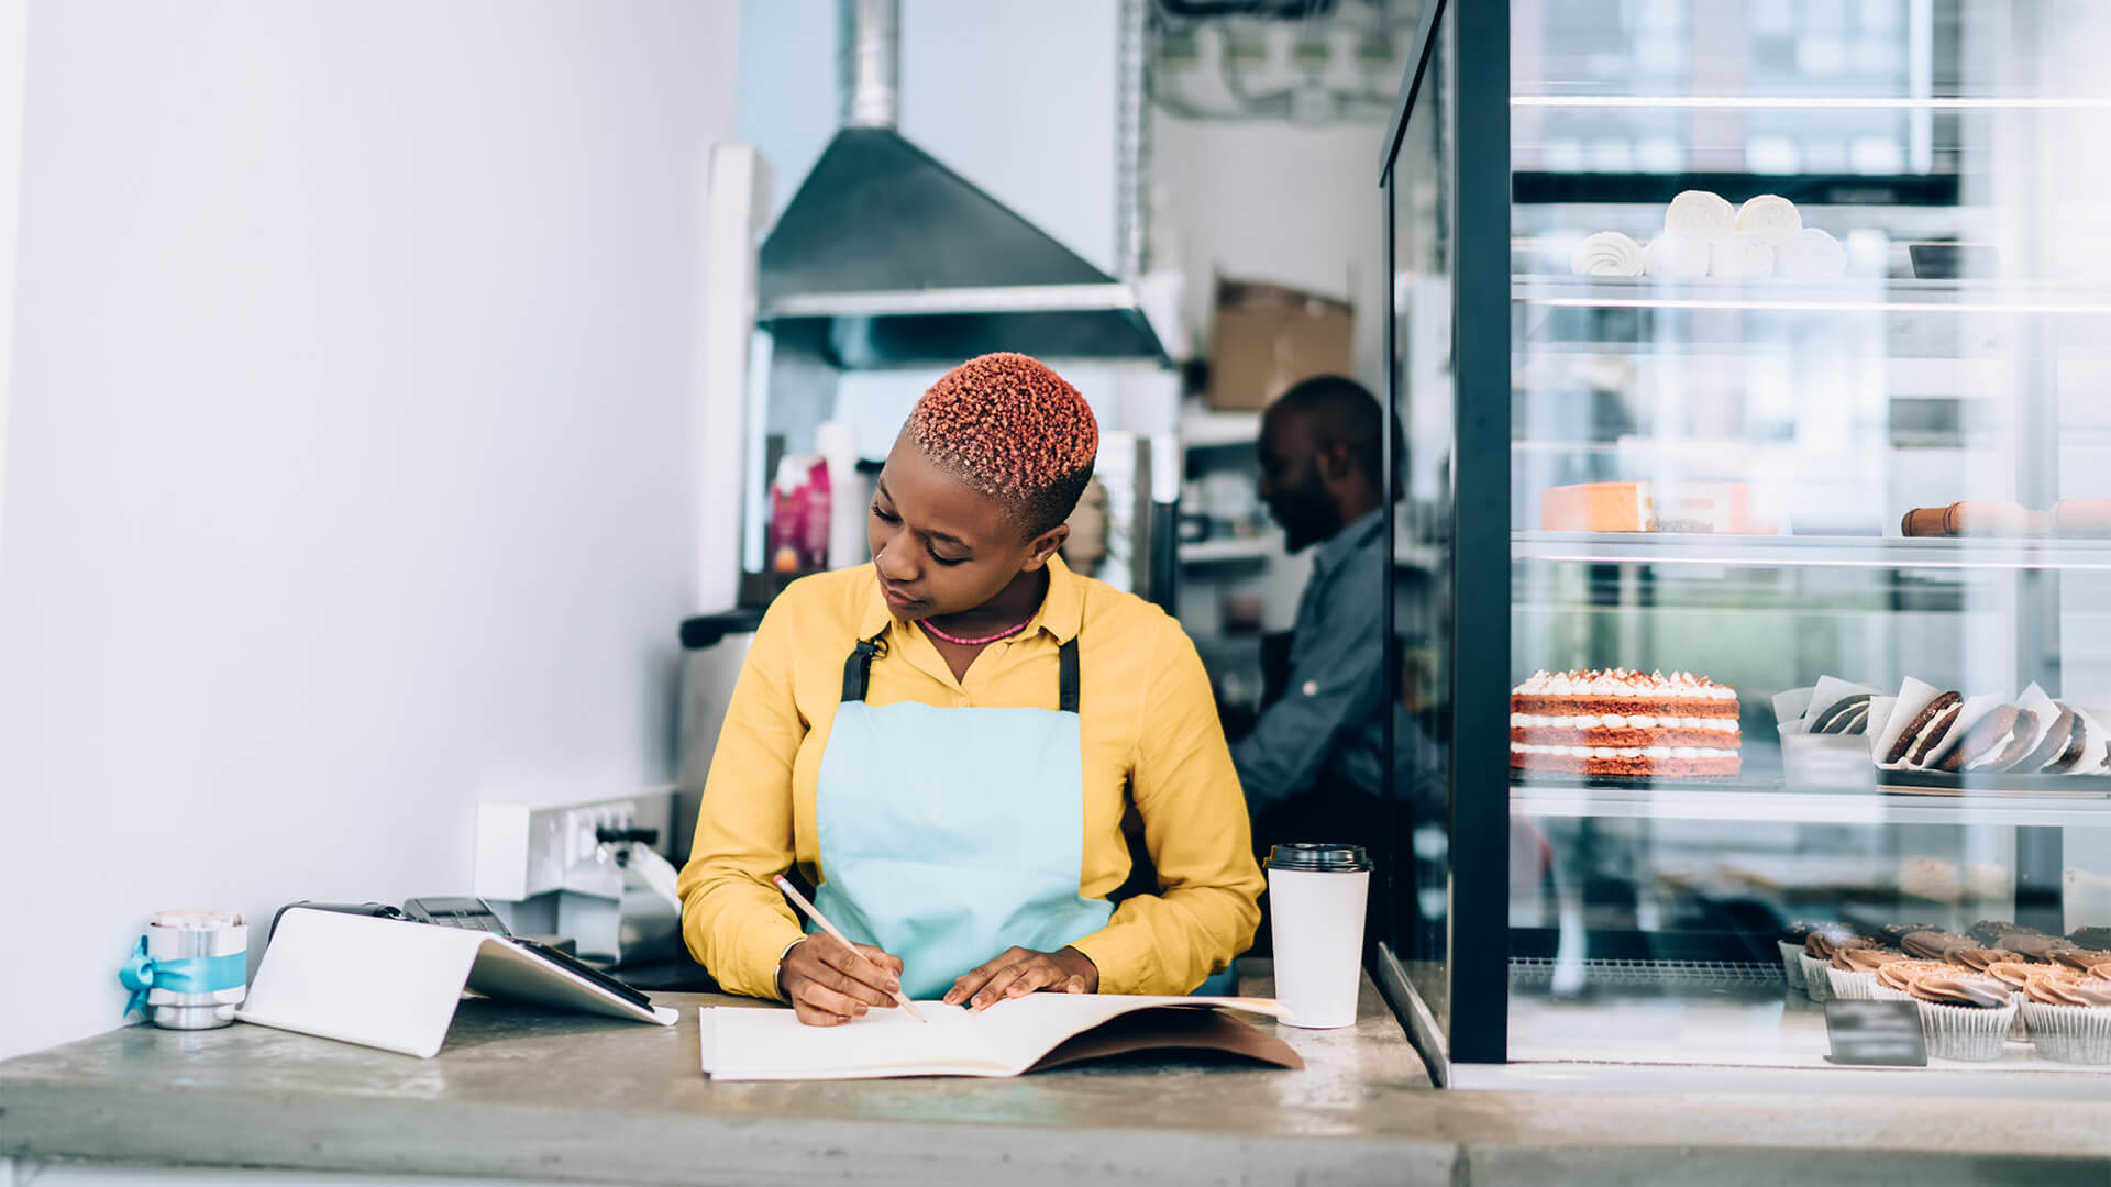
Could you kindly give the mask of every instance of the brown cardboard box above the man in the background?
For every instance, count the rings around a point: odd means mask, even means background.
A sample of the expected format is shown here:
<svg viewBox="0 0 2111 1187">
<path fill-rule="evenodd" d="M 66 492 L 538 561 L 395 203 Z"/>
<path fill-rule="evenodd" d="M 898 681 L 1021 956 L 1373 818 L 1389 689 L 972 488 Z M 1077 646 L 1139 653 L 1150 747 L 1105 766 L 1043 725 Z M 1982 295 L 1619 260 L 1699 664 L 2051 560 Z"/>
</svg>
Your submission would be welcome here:
<svg viewBox="0 0 2111 1187">
<path fill-rule="evenodd" d="M 1218 277 L 1210 408 L 1260 410 L 1298 380 L 1347 376 L 1353 334 L 1355 310 L 1345 300 Z"/>
</svg>

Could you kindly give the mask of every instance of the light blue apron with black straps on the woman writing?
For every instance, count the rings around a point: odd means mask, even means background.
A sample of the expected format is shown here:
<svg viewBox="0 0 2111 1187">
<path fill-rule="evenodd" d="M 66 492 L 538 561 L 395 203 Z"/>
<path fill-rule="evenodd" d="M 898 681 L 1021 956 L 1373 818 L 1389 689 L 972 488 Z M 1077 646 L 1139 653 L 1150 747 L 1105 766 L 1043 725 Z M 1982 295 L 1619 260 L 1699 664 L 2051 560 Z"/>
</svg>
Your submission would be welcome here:
<svg viewBox="0 0 2111 1187">
<path fill-rule="evenodd" d="M 821 752 L 821 915 L 901 957 L 901 988 L 920 999 L 1013 944 L 1053 953 L 1106 927 L 1115 906 L 1079 893 L 1077 640 L 1060 651 L 1058 710 L 872 708 L 885 653 L 874 636 L 844 661 Z"/>
</svg>

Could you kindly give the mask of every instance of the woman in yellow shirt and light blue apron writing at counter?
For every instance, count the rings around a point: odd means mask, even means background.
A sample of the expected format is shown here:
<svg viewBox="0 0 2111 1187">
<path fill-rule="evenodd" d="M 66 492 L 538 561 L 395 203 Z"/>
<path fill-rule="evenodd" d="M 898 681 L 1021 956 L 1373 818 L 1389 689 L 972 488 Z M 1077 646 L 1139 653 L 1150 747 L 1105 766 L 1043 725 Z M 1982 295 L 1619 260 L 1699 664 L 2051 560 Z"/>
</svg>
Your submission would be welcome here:
<svg viewBox="0 0 2111 1187">
<path fill-rule="evenodd" d="M 1049 368 L 963 363 L 887 456 L 872 564 L 771 606 L 680 881 L 722 988 L 836 1024 L 895 986 L 1191 993 L 1248 946 L 1262 879 L 1195 646 L 1056 555 L 1096 450 Z M 1159 893 L 1115 904 L 1131 805 Z M 794 864 L 857 953 L 800 931 Z"/>
</svg>

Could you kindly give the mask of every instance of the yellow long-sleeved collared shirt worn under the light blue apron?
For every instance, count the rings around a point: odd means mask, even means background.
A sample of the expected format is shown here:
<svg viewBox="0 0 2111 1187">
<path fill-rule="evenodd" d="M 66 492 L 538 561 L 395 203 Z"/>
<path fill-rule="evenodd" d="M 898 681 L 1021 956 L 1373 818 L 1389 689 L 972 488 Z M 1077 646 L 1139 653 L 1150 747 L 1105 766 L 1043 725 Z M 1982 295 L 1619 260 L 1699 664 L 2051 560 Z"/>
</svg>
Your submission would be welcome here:
<svg viewBox="0 0 2111 1187">
<path fill-rule="evenodd" d="M 813 819 L 821 750 L 842 699 L 842 661 L 882 629 L 891 646 L 872 661 L 874 708 L 1053 710 L 1056 651 L 1079 640 L 1079 893 L 1108 898 L 1127 881 L 1121 817 L 1131 803 L 1159 877 L 1159 893 L 1121 902 L 1106 927 L 1077 940 L 1100 967 L 1100 993 L 1188 993 L 1245 950 L 1262 879 L 1210 678 L 1180 623 L 1056 558 L 1032 623 L 986 646 L 954 680 L 923 627 L 893 619 L 863 564 L 792 583 L 764 615 L 733 689 L 680 881 L 682 934 L 718 984 L 779 997 L 777 961 L 802 929 L 771 879 L 794 860 L 815 885 L 828 877 Z M 990 773 L 990 792 L 1003 792 L 1001 771 Z"/>
</svg>

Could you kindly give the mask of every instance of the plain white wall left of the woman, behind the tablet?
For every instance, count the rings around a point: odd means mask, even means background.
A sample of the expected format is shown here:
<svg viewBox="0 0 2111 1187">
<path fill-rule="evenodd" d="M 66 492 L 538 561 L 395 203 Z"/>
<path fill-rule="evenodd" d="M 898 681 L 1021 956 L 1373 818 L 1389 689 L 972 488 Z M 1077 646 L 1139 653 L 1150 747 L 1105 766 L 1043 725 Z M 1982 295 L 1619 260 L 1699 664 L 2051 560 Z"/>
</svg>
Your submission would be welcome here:
<svg viewBox="0 0 2111 1187">
<path fill-rule="evenodd" d="M 737 21 L 32 4 L 0 1056 L 150 910 L 458 891 L 479 794 L 667 777 Z"/>
</svg>

